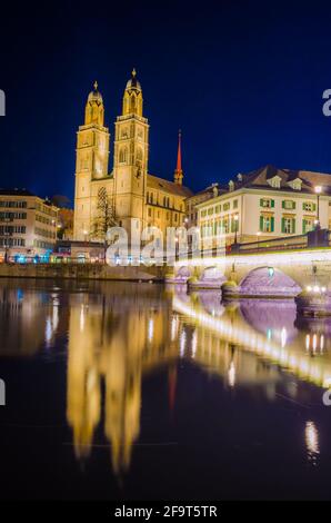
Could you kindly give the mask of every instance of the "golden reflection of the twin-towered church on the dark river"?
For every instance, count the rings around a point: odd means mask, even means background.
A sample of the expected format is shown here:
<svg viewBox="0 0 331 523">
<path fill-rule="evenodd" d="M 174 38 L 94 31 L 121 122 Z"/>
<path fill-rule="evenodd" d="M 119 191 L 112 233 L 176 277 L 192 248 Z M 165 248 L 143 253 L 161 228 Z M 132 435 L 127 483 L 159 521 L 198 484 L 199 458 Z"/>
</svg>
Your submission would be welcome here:
<svg viewBox="0 0 331 523">
<path fill-rule="evenodd" d="M 138 287 L 128 293 L 118 284 L 117 289 L 118 295 L 84 294 L 71 302 L 67 415 L 76 454 L 84 457 L 101 421 L 104 382 L 104 434 L 120 474 L 139 436 L 142 374 L 174 359 L 177 346 L 170 342 L 169 302 L 157 287 L 144 293 L 140 286 L 139 294 Z"/>
</svg>

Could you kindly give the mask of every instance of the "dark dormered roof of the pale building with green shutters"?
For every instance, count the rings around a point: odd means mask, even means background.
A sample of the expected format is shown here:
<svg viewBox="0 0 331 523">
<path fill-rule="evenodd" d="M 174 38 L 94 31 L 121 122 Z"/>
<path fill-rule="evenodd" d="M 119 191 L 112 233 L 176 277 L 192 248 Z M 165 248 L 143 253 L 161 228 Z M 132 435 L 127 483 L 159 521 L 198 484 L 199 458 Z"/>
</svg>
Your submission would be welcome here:
<svg viewBox="0 0 331 523">
<path fill-rule="evenodd" d="M 232 178 L 233 190 L 241 188 L 263 188 L 274 190 L 269 180 L 273 177 L 280 178 L 279 190 L 298 193 L 291 187 L 291 181 L 300 179 L 301 193 L 314 193 L 315 186 L 322 187 L 323 194 L 331 195 L 331 175 L 325 172 L 313 172 L 310 170 L 280 169 L 272 165 L 260 167 L 247 174 L 240 174 Z"/>
</svg>

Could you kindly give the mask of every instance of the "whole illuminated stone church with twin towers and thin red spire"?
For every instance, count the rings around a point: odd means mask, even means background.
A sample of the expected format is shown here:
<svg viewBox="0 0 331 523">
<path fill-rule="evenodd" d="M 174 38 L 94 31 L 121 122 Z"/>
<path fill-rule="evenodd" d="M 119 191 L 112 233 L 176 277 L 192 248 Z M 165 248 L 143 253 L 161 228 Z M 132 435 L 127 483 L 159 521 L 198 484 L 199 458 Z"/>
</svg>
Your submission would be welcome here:
<svg viewBox="0 0 331 523">
<path fill-rule="evenodd" d="M 104 127 L 104 106 L 98 83 L 88 97 L 84 125 L 77 137 L 74 188 L 74 239 L 100 240 L 93 224 L 100 214 L 100 195 L 107 194 L 117 225 L 131 233 L 146 226 L 179 227 L 184 221 L 184 199 L 191 196 L 182 185 L 181 144 L 174 181 L 148 172 L 149 124 L 143 117 L 141 85 L 133 69 L 123 96 L 122 115 L 114 129 L 113 169 L 109 174 L 110 134 Z"/>
</svg>

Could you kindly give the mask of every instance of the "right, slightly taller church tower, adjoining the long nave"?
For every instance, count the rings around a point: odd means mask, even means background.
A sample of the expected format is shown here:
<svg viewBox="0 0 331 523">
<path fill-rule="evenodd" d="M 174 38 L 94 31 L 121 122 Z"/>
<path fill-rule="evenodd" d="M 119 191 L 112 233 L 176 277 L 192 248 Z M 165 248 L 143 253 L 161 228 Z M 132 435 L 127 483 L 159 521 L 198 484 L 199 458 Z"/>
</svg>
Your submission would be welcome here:
<svg viewBox="0 0 331 523">
<path fill-rule="evenodd" d="M 127 83 L 122 115 L 116 121 L 113 178 L 118 224 L 130 235 L 146 225 L 149 125 L 142 116 L 142 90 L 133 69 Z M 134 225 L 133 225 L 134 224 Z"/>
</svg>

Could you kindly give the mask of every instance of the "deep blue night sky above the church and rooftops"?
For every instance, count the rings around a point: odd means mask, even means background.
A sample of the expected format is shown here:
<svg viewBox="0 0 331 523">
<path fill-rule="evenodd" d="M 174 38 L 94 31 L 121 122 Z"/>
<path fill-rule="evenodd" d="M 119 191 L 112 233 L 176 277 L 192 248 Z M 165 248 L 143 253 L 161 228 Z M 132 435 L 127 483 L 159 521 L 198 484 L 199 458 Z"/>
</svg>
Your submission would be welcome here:
<svg viewBox="0 0 331 523">
<path fill-rule="evenodd" d="M 331 88 L 330 4 L 288 3 L 1 7 L 0 186 L 72 199 L 76 131 L 92 83 L 113 137 L 133 67 L 150 124 L 151 174 L 172 179 L 179 128 L 184 184 L 194 190 L 265 164 L 331 172 L 331 117 L 322 114 Z M 112 149 L 110 159 L 111 170 Z"/>
</svg>

